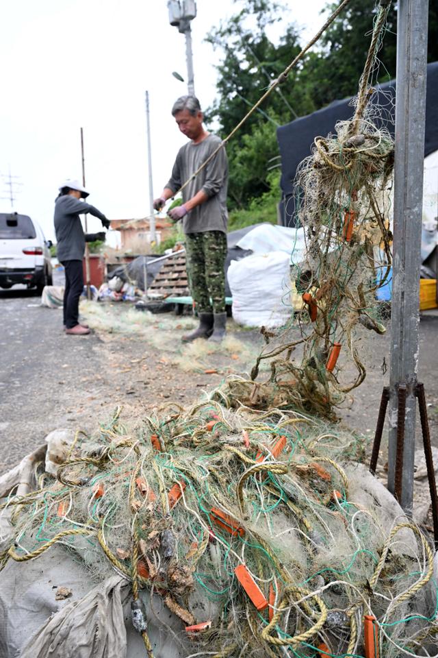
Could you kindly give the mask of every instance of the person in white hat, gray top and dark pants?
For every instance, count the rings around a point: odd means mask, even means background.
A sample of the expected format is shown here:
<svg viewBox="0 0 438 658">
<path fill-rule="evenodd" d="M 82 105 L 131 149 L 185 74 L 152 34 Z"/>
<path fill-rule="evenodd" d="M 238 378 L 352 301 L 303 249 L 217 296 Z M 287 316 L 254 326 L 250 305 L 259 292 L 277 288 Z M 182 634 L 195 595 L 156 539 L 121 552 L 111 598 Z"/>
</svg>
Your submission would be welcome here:
<svg viewBox="0 0 438 658">
<path fill-rule="evenodd" d="M 55 201 L 55 235 L 57 259 L 64 265 L 66 276 L 64 290 L 64 328 L 66 334 L 83 336 L 90 329 L 79 324 L 79 297 L 83 291 L 82 260 L 85 243 L 105 239 L 104 233 L 84 234 L 79 215 L 88 213 L 98 217 L 102 226 L 110 228 L 110 221 L 103 212 L 86 204 L 89 193 L 77 180 L 66 180 L 60 186 L 60 194 Z"/>
</svg>

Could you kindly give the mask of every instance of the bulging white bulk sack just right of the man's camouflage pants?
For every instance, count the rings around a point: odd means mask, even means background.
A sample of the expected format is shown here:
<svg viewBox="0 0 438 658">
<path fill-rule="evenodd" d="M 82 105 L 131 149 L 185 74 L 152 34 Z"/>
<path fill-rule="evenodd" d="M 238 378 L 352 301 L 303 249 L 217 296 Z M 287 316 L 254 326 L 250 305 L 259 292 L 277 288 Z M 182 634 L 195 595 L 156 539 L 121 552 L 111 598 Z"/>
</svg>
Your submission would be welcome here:
<svg viewBox="0 0 438 658">
<path fill-rule="evenodd" d="M 289 264 L 285 252 L 231 261 L 227 276 L 237 324 L 279 327 L 287 322 L 292 313 Z"/>
</svg>

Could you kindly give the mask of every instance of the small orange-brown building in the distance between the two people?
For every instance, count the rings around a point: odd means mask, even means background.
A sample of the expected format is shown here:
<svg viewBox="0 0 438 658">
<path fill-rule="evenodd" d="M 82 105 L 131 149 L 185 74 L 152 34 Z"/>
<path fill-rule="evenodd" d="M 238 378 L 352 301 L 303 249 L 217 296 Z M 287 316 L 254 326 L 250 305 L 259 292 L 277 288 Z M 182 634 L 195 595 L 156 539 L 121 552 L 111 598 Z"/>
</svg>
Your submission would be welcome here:
<svg viewBox="0 0 438 658">
<path fill-rule="evenodd" d="M 159 245 L 172 234 L 172 223 L 155 218 L 155 244 Z M 151 249 L 151 224 L 149 217 L 142 219 L 112 219 L 111 228 L 120 231 L 120 249 L 142 254 Z"/>
</svg>

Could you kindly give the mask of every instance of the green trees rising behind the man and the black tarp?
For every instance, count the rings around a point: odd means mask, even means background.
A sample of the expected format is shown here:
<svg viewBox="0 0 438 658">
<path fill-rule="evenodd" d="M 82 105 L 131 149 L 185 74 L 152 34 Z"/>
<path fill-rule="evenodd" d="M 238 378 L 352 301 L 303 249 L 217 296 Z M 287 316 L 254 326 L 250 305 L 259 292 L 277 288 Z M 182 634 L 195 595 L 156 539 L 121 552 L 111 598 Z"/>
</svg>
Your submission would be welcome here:
<svg viewBox="0 0 438 658">
<path fill-rule="evenodd" d="M 274 44 L 267 32 L 284 20 L 282 6 L 269 0 L 235 0 L 240 8 L 207 40 L 222 55 L 217 66 L 217 99 L 207 120 L 220 125 L 225 136 L 233 130 L 268 86 L 300 51 L 296 26 L 286 23 Z M 327 5 L 333 10 L 336 5 Z M 335 99 L 357 93 L 376 17 L 376 1 L 352 2 L 326 31 L 320 43 L 291 71 L 285 84 L 275 90 L 237 132 L 227 146 L 230 163 L 231 208 L 245 208 L 251 199 L 270 189 L 270 160 L 278 155 L 276 125 L 318 110 Z M 389 10 L 387 27 L 373 72 L 372 84 L 396 75 L 396 3 Z M 429 7 L 428 61 L 438 59 L 437 2 Z"/>
</svg>

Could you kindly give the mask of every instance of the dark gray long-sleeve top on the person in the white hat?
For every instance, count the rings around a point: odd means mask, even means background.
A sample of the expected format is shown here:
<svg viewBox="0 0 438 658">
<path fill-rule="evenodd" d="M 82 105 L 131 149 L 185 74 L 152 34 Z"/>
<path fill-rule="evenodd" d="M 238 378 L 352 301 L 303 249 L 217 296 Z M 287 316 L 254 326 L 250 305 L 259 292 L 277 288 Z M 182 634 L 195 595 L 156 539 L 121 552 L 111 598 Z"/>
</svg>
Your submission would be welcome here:
<svg viewBox="0 0 438 658">
<path fill-rule="evenodd" d="M 57 197 L 55 201 L 56 256 L 64 260 L 82 260 L 85 252 L 85 235 L 79 215 L 94 215 L 105 219 L 100 210 L 90 204 L 79 201 L 70 194 Z"/>
</svg>

